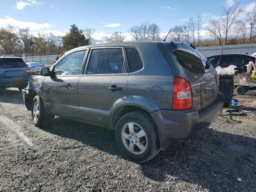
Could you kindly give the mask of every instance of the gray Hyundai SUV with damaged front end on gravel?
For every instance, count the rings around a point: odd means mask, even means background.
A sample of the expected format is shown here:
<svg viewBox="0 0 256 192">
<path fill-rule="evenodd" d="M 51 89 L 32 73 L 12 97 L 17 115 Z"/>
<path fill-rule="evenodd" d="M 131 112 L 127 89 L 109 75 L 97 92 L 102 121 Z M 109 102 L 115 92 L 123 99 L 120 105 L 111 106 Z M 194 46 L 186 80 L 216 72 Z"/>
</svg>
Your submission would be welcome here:
<svg viewBox="0 0 256 192">
<path fill-rule="evenodd" d="M 190 140 L 221 112 L 210 62 L 188 44 L 122 42 L 75 48 L 22 90 L 36 126 L 62 116 L 115 130 L 120 150 L 146 162 Z"/>
</svg>

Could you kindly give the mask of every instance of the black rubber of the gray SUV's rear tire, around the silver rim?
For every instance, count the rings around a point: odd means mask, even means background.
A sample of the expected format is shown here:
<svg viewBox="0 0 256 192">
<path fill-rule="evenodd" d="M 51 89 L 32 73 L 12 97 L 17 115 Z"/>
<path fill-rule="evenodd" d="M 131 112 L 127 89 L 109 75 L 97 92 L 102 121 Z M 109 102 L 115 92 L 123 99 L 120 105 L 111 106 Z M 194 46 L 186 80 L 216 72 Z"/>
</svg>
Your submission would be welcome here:
<svg viewBox="0 0 256 192">
<path fill-rule="evenodd" d="M 146 136 L 144 137 L 144 138 L 146 138 L 146 149 L 142 154 L 134 154 L 134 153 L 130 152 L 126 148 L 127 146 L 125 146 L 125 144 L 123 142 L 122 130 L 123 130 L 123 128 L 125 128 L 125 126 L 127 126 L 127 124 L 129 122 L 132 122 L 132 123 L 138 125 L 138 126 L 134 125 L 134 130 L 135 129 L 140 130 L 140 127 L 141 127 L 142 130 L 144 130 L 144 133 L 146 134 Z M 135 135 L 136 135 L 136 132 L 134 131 L 134 136 Z M 134 146 L 134 148 L 138 148 L 137 136 L 134 139 L 136 139 L 136 141 L 135 141 L 136 144 L 134 143 L 136 146 Z M 125 141 L 127 141 L 129 144 L 131 142 L 133 143 L 133 141 L 130 141 L 129 139 L 126 139 Z M 116 142 L 118 144 L 119 149 L 123 152 L 123 154 L 126 157 L 128 157 L 131 160 L 134 160 L 136 162 L 147 162 L 147 161 L 151 160 L 152 158 L 154 158 L 160 151 L 158 134 L 156 131 L 156 125 L 154 124 L 154 121 L 152 120 L 151 116 L 149 114 L 146 114 L 145 112 L 140 112 L 140 111 L 129 112 L 129 113 L 125 114 L 124 116 L 122 116 L 118 120 L 118 122 L 116 124 Z M 138 142 L 139 142 L 139 138 L 138 138 Z M 144 142 L 144 144 L 145 144 L 145 142 Z M 138 148 L 138 150 L 140 150 L 140 149 Z"/>
</svg>

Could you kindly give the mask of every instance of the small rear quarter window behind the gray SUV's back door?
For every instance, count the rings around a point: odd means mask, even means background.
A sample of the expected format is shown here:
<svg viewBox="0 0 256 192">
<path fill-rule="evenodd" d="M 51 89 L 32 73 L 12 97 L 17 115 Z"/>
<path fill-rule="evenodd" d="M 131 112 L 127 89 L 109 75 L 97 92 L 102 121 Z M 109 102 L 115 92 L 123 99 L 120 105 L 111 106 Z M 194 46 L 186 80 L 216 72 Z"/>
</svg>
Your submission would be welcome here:
<svg viewBox="0 0 256 192">
<path fill-rule="evenodd" d="M 133 73 L 143 68 L 140 53 L 135 48 L 125 48 L 129 72 Z"/>
</svg>

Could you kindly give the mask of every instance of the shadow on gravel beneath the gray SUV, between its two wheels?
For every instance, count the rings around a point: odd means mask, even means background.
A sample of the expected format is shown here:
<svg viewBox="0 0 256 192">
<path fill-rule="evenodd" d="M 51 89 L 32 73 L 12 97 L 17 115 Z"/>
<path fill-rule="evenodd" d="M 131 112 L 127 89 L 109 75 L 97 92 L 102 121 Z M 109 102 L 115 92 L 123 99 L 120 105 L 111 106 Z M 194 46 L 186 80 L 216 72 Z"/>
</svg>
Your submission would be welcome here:
<svg viewBox="0 0 256 192">
<path fill-rule="evenodd" d="M 113 155 L 121 154 L 116 146 L 114 131 L 107 128 L 57 117 L 51 120 L 49 126 L 40 129 L 50 132 L 62 125 L 63 127 L 55 130 L 52 134 L 68 138 L 70 142 L 58 142 L 53 147 L 63 147 L 63 150 L 69 150 L 80 145 L 90 145 Z"/>
</svg>

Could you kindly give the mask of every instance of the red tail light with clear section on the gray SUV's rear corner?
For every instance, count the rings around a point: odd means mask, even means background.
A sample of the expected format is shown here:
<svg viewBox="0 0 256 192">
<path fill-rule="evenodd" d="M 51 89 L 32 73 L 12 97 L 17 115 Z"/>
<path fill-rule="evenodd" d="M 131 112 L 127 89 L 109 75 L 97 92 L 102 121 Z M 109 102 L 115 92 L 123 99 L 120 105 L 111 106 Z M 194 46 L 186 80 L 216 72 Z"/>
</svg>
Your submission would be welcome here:
<svg viewBox="0 0 256 192">
<path fill-rule="evenodd" d="M 190 84 L 181 77 L 174 77 L 172 91 L 172 109 L 183 110 L 192 108 L 192 92 Z"/>
</svg>

